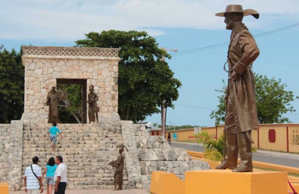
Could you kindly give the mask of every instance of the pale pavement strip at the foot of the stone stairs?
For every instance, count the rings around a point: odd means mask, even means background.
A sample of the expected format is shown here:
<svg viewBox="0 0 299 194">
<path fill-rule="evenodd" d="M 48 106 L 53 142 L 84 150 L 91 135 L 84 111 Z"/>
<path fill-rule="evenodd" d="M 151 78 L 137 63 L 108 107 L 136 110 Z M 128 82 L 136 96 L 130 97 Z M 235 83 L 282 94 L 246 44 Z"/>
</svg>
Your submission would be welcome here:
<svg viewBox="0 0 299 194">
<path fill-rule="evenodd" d="M 150 194 L 149 189 L 124 189 L 114 191 L 110 189 L 95 189 L 95 190 L 66 190 L 66 194 Z M 44 190 L 43 193 L 46 193 Z M 54 193 L 54 192 L 53 192 Z M 25 191 L 13 191 L 9 194 L 26 194 Z"/>
</svg>

